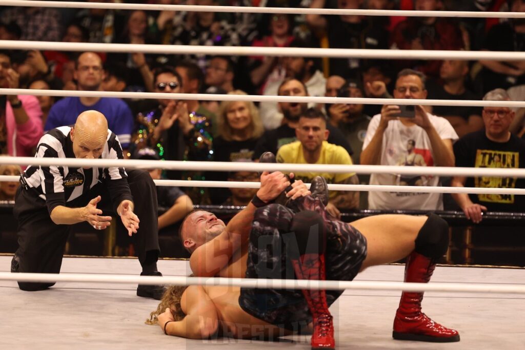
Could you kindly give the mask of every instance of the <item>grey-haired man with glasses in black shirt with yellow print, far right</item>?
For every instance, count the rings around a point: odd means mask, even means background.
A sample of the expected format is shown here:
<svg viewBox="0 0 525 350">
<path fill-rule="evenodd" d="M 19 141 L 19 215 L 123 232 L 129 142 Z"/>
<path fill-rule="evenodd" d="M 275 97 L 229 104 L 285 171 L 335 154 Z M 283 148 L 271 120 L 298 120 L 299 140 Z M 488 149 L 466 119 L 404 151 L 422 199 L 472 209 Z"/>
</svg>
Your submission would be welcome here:
<svg viewBox="0 0 525 350">
<path fill-rule="evenodd" d="M 484 101 L 510 101 L 503 89 L 489 91 Z M 456 166 L 488 168 L 525 167 L 525 141 L 510 133 L 514 112 L 507 107 L 485 107 L 485 129 L 467 134 L 454 144 Z M 525 188 L 525 179 L 516 177 L 455 176 L 454 187 Z M 516 195 L 452 195 L 468 219 L 480 222 L 483 211 L 525 210 L 525 198 Z"/>
</svg>

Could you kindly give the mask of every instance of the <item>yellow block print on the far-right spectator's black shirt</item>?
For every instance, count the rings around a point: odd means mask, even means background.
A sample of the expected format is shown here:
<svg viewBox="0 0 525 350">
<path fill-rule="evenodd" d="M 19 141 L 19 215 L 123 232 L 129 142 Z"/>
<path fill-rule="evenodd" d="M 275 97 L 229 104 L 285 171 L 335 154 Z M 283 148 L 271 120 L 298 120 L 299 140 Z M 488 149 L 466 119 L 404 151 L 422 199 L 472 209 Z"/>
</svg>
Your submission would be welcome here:
<svg viewBox="0 0 525 350">
<path fill-rule="evenodd" d="M 476 152 L 477 168 L 519 168 L 519 153 L 492 150 L 478 150 Z M 474 178 L 476 187 L 484 188 L 516 188 L 516 177 L 480 176 Z M 491 203 L 514 203 L 514 195 L 479 194 L 480 201 Z"/>
</svg>

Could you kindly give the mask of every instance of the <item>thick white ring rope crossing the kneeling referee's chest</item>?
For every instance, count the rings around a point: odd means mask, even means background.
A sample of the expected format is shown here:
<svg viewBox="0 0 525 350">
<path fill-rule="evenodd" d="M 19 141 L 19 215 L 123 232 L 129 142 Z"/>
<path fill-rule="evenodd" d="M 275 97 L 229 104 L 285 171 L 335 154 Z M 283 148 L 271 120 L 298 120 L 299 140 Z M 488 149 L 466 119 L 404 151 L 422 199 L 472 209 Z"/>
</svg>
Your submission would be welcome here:
<svg viewBox="0 0 525 350">
<path fill-rule="evenodd" d="M 146 161 L 132 159 L 80 159 L 80 158 L 36 158 L 36 157 L 0 157 L 0 164 L 42 165 L 73 167 L 126 167 L 138 169 L 170 169 L 187 171 L 217 172 L 293 172 L 293 173 L 356 173 L 356 174 L 392 174 L 392 175 L 429 175 L 429 176 L 499 176 L 525 177 L 525 168 L 468 168 L 446 166 L 394 166 L 394 165 L 333 165 L 333 164 L 291 164 L 257 162 L 197 162 L 197 161 Z M 412 187 L 412 186 L 411 186 Z"/>
</svg>

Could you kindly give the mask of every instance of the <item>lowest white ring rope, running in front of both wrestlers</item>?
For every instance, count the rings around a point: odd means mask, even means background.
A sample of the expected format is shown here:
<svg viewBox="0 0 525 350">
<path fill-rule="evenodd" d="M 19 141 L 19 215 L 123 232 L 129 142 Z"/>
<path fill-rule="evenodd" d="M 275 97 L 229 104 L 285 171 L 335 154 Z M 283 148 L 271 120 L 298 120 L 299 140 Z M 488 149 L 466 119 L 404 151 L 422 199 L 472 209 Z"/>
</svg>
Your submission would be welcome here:
<svg viewBox="0 0 525 350">
<path fill-rule="evenodd" d="M 135 276 L 96 273 L 11 273 L 0 272 L 0 281 L 133 283 L 148 285 L 222 285 L 258 289 L 394 290 L 407 292 L 467 292 L 525 294 L 522 284 L 405 283 L 390 281 L 279 280 L 219 277 Z"/>
</svg>

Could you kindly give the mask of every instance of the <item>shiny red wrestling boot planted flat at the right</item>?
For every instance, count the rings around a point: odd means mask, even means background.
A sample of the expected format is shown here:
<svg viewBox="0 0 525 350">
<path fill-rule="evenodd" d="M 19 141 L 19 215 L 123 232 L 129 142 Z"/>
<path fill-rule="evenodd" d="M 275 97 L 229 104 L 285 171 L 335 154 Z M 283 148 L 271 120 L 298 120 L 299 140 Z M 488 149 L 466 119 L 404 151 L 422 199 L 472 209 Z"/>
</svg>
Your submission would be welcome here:
<svg viewBox="0 0 525 350">
<path fill-rule="evenodd" d="M 406 260 L 405 282 L 428 283 L 435 267 L 435 260 L 414 251 Z M 403 292 L 394 319 L 394 339 L 435 343 L 459 342 L 457 331 L 430 320 L 421 312 L 422 300 L 423 292 Z"/>
</svg>

